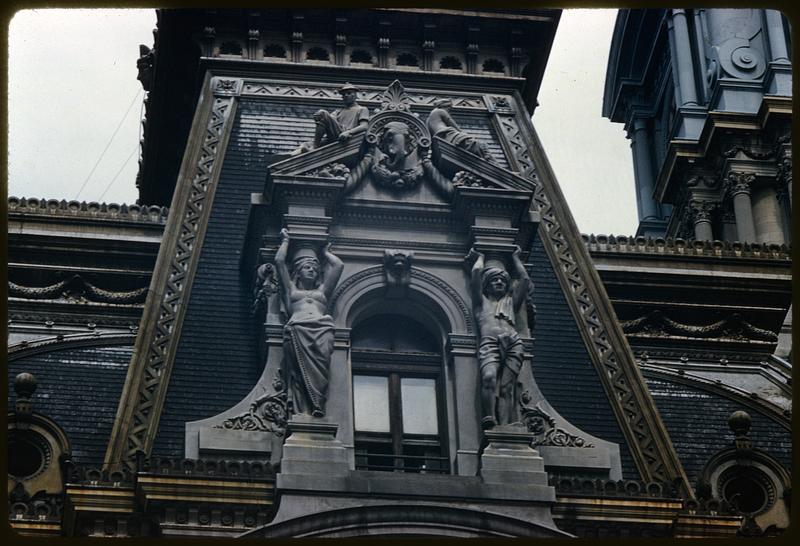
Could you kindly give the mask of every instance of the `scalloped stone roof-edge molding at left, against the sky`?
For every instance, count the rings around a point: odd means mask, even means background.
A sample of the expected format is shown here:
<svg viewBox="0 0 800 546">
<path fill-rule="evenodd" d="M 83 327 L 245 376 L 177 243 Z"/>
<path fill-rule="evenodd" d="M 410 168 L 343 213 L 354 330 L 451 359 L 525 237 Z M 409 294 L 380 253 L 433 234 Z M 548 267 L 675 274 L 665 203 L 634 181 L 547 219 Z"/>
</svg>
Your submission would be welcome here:
<svg viewBox="0 0 800 546">
<path fill-rule="evenodd" d="M 9 197 L 8 214 L 13 219 L 18 215 L 53 216 L 87 220 L 124 221 L 143 224 L 165 224 L 169 208 L 157 205 L 119 205 L 91 201 L 66 201 L 64 199 L 37 199 L 34 197 Z"/>
</svg>

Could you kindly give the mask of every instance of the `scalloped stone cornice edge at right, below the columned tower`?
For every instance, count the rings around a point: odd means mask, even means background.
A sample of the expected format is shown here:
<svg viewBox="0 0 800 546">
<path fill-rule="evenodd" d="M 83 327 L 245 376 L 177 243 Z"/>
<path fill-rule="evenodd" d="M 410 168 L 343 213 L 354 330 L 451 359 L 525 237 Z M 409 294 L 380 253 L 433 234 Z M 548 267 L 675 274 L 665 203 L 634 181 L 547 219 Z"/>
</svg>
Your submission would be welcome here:
<svg viewBox="0 0 800 546">
<path fill-rule="evenodd" d="M 736 258 L 791 263 L 787 245 L 740 243 L 738 241 L 687 241 L 684 239 L 626 235 L 581 235 L 592 254 L 674 256 L 677 258 Z"/>
</svg>

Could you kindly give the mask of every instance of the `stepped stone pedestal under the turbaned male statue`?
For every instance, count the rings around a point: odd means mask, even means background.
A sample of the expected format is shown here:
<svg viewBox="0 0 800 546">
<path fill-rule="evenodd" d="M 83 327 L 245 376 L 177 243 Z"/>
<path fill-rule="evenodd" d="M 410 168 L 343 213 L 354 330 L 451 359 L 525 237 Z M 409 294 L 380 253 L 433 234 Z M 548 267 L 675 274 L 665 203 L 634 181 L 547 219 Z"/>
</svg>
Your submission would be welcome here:
<svg viewBox="0 0 800 546">
<path fill-rule="evenodd" d="M 484 433 L 480 475 L 485 483 L 547 486 L 544 459 L 531 447 L 534 435 L 523 427 L 500 426 Z"/>
</svg>

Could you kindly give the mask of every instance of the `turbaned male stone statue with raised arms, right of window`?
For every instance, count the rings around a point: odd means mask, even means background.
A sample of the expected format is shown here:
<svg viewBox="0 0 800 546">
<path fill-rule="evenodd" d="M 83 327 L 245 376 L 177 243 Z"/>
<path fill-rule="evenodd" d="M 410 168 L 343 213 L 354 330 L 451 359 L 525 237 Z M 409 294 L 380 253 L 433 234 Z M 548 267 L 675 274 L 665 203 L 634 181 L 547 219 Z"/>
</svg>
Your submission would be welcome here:
<svg viewBox="0 0 800 546">
<path fill-rule="evenodd" d="M 472 248 L 467 261 L 472 266 L 471 285 L 480 342 L 478 363 L 481 376 L 483 428 L 519 421 L 517 377 L 522 369 L 524 347 L 516 329 L 515 315 L 528 297 L 530 278 L 520 260 L 520 248 L 512 256 L 515 278 L 503 264 Z"/>
</svg>

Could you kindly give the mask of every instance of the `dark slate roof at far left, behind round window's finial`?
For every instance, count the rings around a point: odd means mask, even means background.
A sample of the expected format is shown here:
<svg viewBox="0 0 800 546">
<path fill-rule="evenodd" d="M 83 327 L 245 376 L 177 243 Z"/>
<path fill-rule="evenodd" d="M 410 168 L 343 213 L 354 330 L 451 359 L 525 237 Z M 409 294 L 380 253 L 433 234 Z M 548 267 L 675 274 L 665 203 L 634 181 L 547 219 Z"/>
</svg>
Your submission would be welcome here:
<svg viewBox="0 0 800 546">
<path fill-rule="evenodd" d="M 132 353 L 130 345 L 72 347 L 10 360 L 9 407 L 15 400 L 14 378 L 21 372 L 32 373 L 39 384 L 33 395 L 34 411 L 64 429 L 74 462 L 99 465 Z"/>
</svg>

